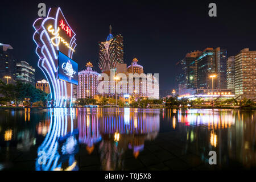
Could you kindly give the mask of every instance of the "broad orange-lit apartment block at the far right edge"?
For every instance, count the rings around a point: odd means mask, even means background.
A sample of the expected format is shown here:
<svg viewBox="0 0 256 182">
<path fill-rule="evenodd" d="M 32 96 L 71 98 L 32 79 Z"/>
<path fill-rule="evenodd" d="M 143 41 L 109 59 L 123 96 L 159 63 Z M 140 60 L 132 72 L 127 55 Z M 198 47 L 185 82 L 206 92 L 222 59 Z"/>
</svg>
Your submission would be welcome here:
<svg viewBox="0 0 256 182">
<path fill-rule="evenodd" d="M 242 49 L 234 58 L 235 94 L 250 99 L 256 98 L 256 51 Z"/>
</svg>

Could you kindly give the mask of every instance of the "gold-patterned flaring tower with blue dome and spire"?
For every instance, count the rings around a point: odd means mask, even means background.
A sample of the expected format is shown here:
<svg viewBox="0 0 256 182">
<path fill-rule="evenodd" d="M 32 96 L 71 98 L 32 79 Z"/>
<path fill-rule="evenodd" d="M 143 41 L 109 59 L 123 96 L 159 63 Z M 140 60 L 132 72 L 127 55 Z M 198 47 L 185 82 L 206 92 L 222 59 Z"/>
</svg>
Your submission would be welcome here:
<svg viewBox="0 0 256 182">
<path fill-rule="evenodd" d="M 123 37 L 112 35 L 112 27 L 109 26 L 109 35 L 106 42 L 99 42 L 99 67 L 101 72 L 110 73 L 110 69 L 116 68 L 118 63 L 123 63 Z"/>
</svg>

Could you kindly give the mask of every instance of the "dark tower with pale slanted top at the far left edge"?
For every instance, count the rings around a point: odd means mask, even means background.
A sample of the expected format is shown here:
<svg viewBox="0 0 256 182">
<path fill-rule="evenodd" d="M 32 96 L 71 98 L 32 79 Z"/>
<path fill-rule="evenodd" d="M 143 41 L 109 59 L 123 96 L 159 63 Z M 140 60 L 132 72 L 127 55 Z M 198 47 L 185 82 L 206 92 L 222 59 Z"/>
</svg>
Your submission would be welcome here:
<svg viewBox="0 0 256 182">
<path fill-rule="evenodd" d="M 16 61 L 9 44 L 0 43 L 0 79 L 13 84 L 16 81 Z"/>
</svg>

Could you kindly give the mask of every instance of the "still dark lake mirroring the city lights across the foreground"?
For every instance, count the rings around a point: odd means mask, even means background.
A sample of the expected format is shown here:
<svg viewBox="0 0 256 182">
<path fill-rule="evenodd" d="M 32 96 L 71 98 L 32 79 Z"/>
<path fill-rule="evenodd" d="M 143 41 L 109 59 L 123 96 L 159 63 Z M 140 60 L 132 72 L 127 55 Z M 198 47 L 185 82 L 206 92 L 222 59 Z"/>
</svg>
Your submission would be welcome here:
<svg viewBox="0 0 256 182">
<path fill-rule="evenodd" d="M 255 169 L 255 139 L 255 110 L 1 109 L 0 170 Z"/>
</svg>

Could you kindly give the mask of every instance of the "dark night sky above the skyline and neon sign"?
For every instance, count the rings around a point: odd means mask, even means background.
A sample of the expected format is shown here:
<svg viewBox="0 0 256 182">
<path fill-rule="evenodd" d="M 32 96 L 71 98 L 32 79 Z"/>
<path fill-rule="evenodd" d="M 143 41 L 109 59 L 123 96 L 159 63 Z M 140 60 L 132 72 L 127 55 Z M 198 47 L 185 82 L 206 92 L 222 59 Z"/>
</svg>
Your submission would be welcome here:
<svg viewBox="0 0 256 182">
<path fill-rule="evenodd" d="M 13 46 L 16 60 L 37 67 L 32 23 L 38 18 L 38 3 L 61 7 L 76 32 L 73 60 L 79 71 L 91 61 L 98 68 L 98 42 L 105 41 L 112 24 L 114 35 L 121 34 L 124 61 L 134 57 L 146 73 L 159 73 L 160 90 L 175 84 L 175 63 L 185 53 L 206 47 L 221 47 L 228 56 L 242 48 L 256 50 L 255 1 L 5 1 L 0 3 L 0 43 Z M 217 4 L 217 17 L 208 16 L 210 2 Z"/>
</svg>

